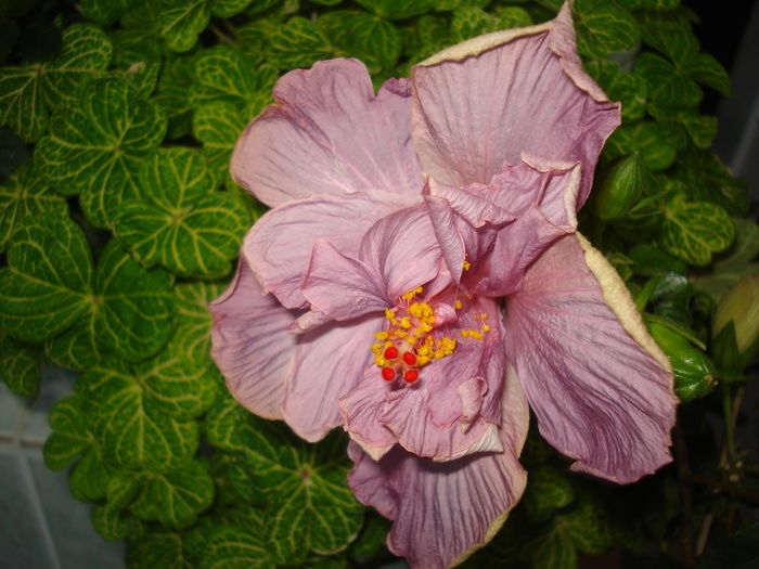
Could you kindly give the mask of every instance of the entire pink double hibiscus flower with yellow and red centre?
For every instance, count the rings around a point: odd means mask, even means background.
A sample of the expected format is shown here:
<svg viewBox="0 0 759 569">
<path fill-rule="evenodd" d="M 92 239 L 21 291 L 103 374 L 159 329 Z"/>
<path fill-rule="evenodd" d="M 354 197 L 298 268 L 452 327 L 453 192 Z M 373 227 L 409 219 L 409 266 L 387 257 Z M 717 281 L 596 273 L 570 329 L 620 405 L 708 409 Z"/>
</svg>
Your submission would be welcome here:
<svg viewBox="0 0 759 569">
<path fill-rule="evenodd" d="M 669 362 L 576 232 L 619 125 L 569 9 L 389 80 L 353 60 L 283 76 L 232 173 L 272 207 L 211 305 L 236 399 L 317 441 L 343 426 L 388 545 L 447 567 L 519 500 L 529 422 L 573 468 L 631 482 L 670 461 Z"/>
</svg>

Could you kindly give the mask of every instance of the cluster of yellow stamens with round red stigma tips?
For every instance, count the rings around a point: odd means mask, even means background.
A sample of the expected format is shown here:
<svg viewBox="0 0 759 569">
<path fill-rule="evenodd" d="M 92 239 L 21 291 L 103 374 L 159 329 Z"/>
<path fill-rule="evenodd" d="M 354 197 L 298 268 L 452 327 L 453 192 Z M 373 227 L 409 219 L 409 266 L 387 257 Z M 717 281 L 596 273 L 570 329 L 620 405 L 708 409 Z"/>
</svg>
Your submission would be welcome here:
<svg viewBox="0 0 759 569">
<path fill-rule="evenodd" d="M 406 293 L 400 306 L 385 310 L 385 329 L 374 337 L 374 363 L 382 368 L 382 377 L 393 382 L 402 377 L 407 384 L 419 379 L 419 368 L 433 360 L 440 360 L 455 351 L 455 338 L 434 338 L 435 309 L 427 302 L 415 302 L 422 287 Z"/>
</svg>

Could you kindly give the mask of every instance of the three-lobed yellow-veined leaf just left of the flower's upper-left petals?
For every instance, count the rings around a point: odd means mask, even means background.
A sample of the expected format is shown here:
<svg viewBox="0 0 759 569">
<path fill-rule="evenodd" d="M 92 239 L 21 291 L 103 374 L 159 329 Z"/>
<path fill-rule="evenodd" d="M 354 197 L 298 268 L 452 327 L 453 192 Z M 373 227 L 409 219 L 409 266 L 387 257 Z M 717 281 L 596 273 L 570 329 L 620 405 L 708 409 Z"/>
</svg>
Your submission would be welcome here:
<svg viewBox="0 0 759 569">
<path fill-rule="evenodd" d="M 143 163 L 140 199 L 127 201 L 116 235 L 141 262 L 181 274 L 228 274 L 250 224 L 235 194 L 214 191 L 203 158 L 189 148 L 162 148 Z"/>
</svg>

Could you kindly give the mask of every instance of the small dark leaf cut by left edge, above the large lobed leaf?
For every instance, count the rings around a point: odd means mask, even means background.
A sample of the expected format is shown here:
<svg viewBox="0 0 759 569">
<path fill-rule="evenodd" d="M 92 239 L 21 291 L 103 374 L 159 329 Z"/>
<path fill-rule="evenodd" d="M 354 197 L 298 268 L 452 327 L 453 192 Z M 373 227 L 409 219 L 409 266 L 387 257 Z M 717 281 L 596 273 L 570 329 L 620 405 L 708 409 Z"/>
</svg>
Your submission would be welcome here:
<svg viewBox="0 0 759 569">
<path fill-rule="evenodd" d="M 27 163 L 0 185 L 0 253 L 18 228 L 39 216 L 67 217 L 68 206 Z"/>
</svg>

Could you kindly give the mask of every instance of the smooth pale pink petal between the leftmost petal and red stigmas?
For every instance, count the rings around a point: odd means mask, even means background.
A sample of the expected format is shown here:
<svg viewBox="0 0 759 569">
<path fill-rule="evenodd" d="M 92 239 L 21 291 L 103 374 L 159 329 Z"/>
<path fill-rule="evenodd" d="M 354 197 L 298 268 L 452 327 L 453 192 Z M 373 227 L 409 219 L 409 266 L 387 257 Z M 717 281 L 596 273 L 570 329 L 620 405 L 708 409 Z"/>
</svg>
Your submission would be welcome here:
<svg viewBox="0 0 759 569">
<path fill-rule="evenodd" d="M 382 318 L 372 316 L 297 336 L 283 415 L 300 437 L 318 441 L 342 424 L 337 400 L 361 380 L 382 324 Z"/>
</svg>

